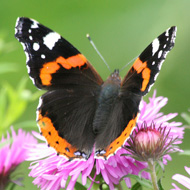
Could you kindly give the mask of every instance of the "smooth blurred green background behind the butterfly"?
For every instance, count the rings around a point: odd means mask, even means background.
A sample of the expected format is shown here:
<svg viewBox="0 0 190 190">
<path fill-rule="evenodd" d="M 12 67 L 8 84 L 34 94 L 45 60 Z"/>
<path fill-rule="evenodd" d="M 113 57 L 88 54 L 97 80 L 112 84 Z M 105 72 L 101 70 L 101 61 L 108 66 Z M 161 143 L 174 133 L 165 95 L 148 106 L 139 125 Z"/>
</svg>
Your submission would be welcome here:
<svg viewBox="0 0 190 190">
<path fill-rule="evenodd" d="M 157 89 L 158 96 L 169 99 L 162 111 L 165 114 L 178 112 L 179 116 L 175 120 L 184 122 L 180 114 L 190 107 L 189 0 L 1 0 L 0 33 L 5 36 L 7 43 L 14 42 L 15 50 L 0 55 L 0 63 L 16 63 L 18 70 L 1 74 L 0 83 L 8 81 L 13 86 L 17 85 L 23 76 L 28 78 L 25 54 L 22 46 L 14 38 L 15 22 L 19 16 L 31 17 L 60 33 L 88 58 L 103 79 L 108 77 L 109 71 L 86 39 L 87 33 L 91 35 L 111 70 L 114 70 L 122 68 L 140 54 L 167 28 L 177 26 L 175 48 L 168 54 L 156 84 L 145 100 Z M 122 71 L 121 76 L 127 73 L 130 66 Z M 37 91 L 31 80 L 28 80 L 27 88 L 32 92 Z M 30 103 L 17 123 L 35 120 L 37 104 L 38 101 Z M 34 128 L 37 129 L 36 126 Z M 182 149 L 190 149 L 189 139 L 190 132 L 186 130 L 183 144 L 180 145 Z M 21 166 L 25 175 L 28 175 L 28 164 Z M 186 175 L 185 165 L 190 166 L 189 157 L 172 155 L 172 161 L 166 166 L 162 179 L 166 190 L 172 187 L 172 175 Z M 31 182 L 31 178 L 26 178 L 25 187 L 17 189 L 37 189 Z"/>
</svg>

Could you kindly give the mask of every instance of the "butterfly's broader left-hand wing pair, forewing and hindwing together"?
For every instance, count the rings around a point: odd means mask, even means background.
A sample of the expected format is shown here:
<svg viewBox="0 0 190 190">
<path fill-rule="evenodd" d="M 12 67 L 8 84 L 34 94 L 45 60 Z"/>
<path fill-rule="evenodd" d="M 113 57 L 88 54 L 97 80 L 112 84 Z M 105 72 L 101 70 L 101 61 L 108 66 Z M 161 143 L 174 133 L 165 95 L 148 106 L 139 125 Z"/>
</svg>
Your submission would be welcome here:
<svg viewBox="0 0 190 190">
<path fill-rule="evenodd" d="M 18 18 L 15 37 L 24 47 L 33 83 L 48 90 L 37 109 L 42 135 L 58 154 L 87 158 L 101 77 L 75 47 L 35 20 Z"/>
</svg>

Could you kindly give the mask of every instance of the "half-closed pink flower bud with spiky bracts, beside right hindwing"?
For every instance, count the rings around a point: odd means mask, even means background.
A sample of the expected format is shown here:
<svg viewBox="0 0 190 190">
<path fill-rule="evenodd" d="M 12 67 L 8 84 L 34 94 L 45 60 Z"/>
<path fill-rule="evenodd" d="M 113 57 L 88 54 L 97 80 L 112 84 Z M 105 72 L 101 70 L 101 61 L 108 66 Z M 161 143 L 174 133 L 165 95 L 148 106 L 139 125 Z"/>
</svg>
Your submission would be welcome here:
<svg viewBox="0 0 190 190">
<path fill-rule="evenodd" d="M 137 160 L 160 161 L 163 156 L 179 150 L 173 146 L 176 141 L 177 138 L 170 136 L 170 131 L 166 133 L 166 127 L 156 128 L 154 123 L 150 126 L 144 123 L 141 129 L 137 126 L 125 148 Z"/>
</svg>

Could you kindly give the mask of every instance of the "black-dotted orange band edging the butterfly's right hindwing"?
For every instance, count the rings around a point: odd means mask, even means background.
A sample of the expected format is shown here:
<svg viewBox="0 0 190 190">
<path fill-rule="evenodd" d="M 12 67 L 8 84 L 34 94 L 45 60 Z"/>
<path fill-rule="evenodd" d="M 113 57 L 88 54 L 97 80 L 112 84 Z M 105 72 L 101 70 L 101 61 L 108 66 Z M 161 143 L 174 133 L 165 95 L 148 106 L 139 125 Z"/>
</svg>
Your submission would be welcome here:
<svg viewBox="0 0 190 190">
<path fill-rule="evenodd" d="M 109 157 L 109 155 L 112 155 L 118 150 L 120 147 L 123 146 L 125 141 L 129 138 L 132 130 L 134 129 L 136 125 L 137 116 L 134 119 L 131 119 L 128 123 L 128 125 L 125 127 L 125 130 L 121 133 L 121 135 L 115 139 L 107 148 L 106 153 L 101 155 L 103 157 Z"/>
</svg>

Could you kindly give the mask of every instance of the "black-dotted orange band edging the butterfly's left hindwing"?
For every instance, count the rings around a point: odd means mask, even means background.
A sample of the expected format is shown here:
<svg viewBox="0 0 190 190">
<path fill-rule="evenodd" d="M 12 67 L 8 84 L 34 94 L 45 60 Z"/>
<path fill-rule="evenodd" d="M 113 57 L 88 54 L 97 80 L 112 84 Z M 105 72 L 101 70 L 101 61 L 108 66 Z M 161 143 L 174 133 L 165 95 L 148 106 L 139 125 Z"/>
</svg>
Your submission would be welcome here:
<svg viewBox="0 0 190 190">
<path fill-rule="evenodd" d="M 48 144 L 53 147 L 58 154 L 64 155 L 67 158 L 76 157 L 74 153 L 77 149 L 59 136 L 50 118 L 39 114 L 38 125 Z"/>
</svg>

